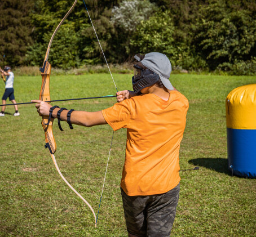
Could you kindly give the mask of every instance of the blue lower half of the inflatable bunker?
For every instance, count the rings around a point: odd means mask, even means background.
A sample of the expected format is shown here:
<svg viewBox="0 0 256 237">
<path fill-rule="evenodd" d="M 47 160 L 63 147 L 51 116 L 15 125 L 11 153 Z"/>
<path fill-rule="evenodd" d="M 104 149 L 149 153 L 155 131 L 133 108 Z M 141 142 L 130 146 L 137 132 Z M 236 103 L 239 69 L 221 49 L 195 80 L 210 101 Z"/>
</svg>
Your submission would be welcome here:
<svg viewBox="0 0 256 237">
<path fill-rule="evenodd" d="M 256 178 L 256 129 L 227 128 L 228 168 L 234 175 Z"/>
</svg>

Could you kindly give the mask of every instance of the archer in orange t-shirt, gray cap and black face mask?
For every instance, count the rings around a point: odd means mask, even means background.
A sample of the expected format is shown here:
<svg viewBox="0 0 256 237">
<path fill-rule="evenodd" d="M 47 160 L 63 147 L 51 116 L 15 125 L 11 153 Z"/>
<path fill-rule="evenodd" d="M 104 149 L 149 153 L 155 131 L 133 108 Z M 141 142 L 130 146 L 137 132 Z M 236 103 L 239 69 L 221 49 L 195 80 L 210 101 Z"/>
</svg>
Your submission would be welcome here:
<svg viewBox="0 0 256 237">
<path fill-rule="evenodd" d="M 170 236 L 179 199 L 179 149 L 188 100 L 171 85 L 171 63 L 165 55 L 152 52 L 135 59 L 134 91 L 117 92 L 118 103 L 110 108 L 74 111 L 32 102 L 40 116 L 65 120 L 71 127 L 126 128 L 121 194 L 128 235 Z"/>
</svg>

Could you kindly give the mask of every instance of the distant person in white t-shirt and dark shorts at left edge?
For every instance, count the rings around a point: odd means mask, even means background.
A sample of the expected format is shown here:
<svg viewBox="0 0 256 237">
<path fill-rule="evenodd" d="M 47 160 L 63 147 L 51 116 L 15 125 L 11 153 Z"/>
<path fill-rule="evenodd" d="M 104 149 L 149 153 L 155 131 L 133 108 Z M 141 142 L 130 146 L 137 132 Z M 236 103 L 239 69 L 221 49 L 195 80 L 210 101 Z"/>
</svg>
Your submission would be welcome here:
<svg viewBox="0 0 256 237">
<path fill-rule="evenodd" d="M 11 67 L 5 66 L 3 70 L 0 68 L 0 71 L 2 75 L 6 76 L 5 93 L 3 93 L 2 104 L 3 105 L 6 104 L 6 100 L 8 97 L 9 97 L 9 100 L 12 102 L 12 104 L 17 104 L 14 97 L 14 73 L 11 71 Z M 0 117 L 5 116 L 5 108 L 6 106 L 2 106 Z M 18 111 L 18 106 L 14 105 L 14 109 L 15 109 L 14 116 L 19 116 L 20 113 Z"/>
</svg>

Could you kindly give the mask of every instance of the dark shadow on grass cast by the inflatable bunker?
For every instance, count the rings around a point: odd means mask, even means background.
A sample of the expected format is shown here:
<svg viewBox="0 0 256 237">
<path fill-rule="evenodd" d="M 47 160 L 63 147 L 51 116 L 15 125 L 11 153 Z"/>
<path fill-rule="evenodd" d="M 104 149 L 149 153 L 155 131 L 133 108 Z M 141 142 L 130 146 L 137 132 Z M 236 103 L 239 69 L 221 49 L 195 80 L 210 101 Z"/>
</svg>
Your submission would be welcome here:
<svg viewBox="0 0 256 237">
<path fill-rule="evenodd" d="M 219 173 L 231 175 L 228 171 L 228 159 L 225 158 L 197 158 L 188 161 L 189 164 L 194 166 L 201 166 L 208 169 L 213 169 Z"/>
</svg>

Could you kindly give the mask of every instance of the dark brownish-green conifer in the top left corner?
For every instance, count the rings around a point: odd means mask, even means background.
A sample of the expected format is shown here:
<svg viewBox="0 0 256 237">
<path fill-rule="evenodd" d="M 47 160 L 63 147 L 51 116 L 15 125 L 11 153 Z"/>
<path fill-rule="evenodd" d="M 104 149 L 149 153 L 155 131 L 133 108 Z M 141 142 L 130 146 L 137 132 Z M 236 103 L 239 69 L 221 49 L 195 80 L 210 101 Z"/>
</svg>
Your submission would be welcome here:
<svg viewBox="0 0 256 237">
<path fill-rule="evenodd" d="M 27 47 L 32 44 L 30 37 L 30 10 L 33 1 L 1 0 L 0 2 L 0 64 L 17 66 L 24 63 Z"/>
</svg>

